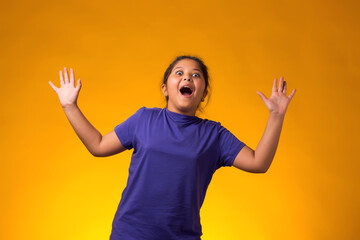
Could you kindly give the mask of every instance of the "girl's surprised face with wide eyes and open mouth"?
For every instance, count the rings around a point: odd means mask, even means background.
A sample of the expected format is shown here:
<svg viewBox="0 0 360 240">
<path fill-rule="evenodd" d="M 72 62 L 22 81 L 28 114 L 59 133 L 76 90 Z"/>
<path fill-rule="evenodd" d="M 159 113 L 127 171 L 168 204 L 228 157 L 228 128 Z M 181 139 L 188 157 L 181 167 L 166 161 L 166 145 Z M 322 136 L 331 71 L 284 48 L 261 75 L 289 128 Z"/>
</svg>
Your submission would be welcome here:
<svg viewBox="0 0 360 240">
<path fill-rule="evenodd" d="M 187 85 L 188 88 L 184 86 Z M 198 105 L 205 98 L 205 79 L 198 63 L 182 59 L 174 66 L 162 91 L 168 99 L 168 110 L 195 116 Z"/>
</svg>

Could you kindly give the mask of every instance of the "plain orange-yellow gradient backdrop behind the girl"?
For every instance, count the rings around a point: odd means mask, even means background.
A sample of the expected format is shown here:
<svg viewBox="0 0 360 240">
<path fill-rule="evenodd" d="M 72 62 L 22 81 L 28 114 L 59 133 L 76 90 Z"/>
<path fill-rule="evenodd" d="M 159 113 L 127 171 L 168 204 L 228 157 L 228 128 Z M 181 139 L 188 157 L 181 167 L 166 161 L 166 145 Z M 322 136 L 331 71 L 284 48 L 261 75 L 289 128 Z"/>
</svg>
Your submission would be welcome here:
<svg viewBox="0 0 360 240">
<path fill-rule="evenodd" d="M 250 3 L 251 2 L 251 3 Z M 131 151 L 93 157 L 56 93 L 73 68 L 78 104 L 104 135 L 164 107 L 175 56 L 201 57 L 212 97 L 199 115 L 256 148 L 284 76 L 297 92 L 266 174 L 213 176 L 204 240 L 359 237 L 358 1 L 2 1 L 1 239 L 109 239 Z"/>
</svg>

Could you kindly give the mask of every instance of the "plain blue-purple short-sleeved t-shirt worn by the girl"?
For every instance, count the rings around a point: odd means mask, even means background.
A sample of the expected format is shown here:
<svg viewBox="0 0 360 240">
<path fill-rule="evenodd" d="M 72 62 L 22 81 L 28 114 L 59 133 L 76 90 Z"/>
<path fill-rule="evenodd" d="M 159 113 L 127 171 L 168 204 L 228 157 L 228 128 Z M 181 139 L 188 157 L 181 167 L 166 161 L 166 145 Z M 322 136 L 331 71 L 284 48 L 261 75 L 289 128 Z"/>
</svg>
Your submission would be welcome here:
<svg viewBox="0 0 360 240">
<path fill-rule="evenodd" d="M 110 240 L 199 240 L 212 175 L 245 144 L 219 122 L 167 108 L 142 107 L 114 130 L 134 151 Z"/>
</svg>

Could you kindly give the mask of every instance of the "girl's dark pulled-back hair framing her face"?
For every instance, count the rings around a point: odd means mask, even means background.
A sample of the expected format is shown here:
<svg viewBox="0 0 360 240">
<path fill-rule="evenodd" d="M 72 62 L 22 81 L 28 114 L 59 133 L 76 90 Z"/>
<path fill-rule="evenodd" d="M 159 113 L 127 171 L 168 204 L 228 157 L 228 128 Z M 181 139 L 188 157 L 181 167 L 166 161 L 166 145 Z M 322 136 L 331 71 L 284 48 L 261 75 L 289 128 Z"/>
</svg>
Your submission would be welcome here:
<svg viewBox="0 0 360 240">
<path fill-rule="evenodd" d="M 206 105 L 207 105 L 209 103 L 209 100 L 210 100 L 209 74 L 208 74 L 208 68 L 206 67 L 204 62 L 199 57 L 189 56 L 189 55 L 177 56 L 175 58 L 175 60 L 173 60 L 172 63 L 166 69 L 166 71 L 164 73 L 163 84 L 165 84 L 165 85 L 167 84 L 167 80 L 168 80 L 173 68 L 182 59 L 191 59 L 191 60 L 196 61 L 199 64 L 200 70 L 202 71 L 202 73 L 204 75 L 204 79 L 205 79 L 205 89 L 204 89 L 204 91 L 207 91 L 207 102 L 206 102 Z M 166 99 L 166 107 L 167 107 L 167 102 L 168 102 L 169 97 L 165 97 L 165 99 Z M 198 106 L 198 109 L 199 109 L 200 112 L 203 111 L 203 108 L 200 106 L 200 104 Z"/>
</svg>

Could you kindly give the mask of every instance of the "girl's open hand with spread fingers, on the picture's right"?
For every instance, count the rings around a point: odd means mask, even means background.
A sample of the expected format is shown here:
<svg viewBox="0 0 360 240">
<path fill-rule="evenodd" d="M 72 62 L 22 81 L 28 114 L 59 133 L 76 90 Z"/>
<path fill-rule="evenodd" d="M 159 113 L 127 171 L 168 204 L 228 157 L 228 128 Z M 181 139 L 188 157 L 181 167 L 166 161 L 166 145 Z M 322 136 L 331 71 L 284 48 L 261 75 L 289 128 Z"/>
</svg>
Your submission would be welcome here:
<svg viewBox="0 0 360 240">
<path fill-rule="evenodd" d="M 259 94 L 261 99 L 264 101 L 266 107 L 269 109 L 270 112 L 285 115 L 286 109 L 295 95 L 296 89 L 294 89 L 291 94 L 287 97 L 286 96 L 286 89 L 287 84 L 284 81 L 283 77 L 280 77 L 279 88 L 277 88 L 277 79 L 275 78 L 271 97 L 267 98 L 262 92 L 257 91 L 256 93 Z"/>
</svg>

